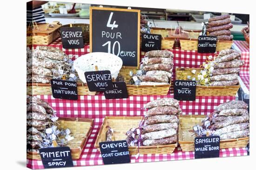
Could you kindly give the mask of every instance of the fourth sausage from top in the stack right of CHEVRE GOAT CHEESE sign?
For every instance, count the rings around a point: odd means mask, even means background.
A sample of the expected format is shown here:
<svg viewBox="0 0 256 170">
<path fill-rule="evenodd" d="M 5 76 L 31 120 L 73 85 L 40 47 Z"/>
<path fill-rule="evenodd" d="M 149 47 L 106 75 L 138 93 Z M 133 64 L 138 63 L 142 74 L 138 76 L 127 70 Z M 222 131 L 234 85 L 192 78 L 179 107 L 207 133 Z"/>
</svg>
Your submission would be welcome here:
<svg viewBox="0 0 256 170">
<path fill-rule="evenodd" d="M 175 122 L 175 123 L 158 123 L 154 125 L 147 125 L 143 127 L 142 134 L 145 134 L 147 132 L 166 130 L 170 128 L 178 129 L 178 124 Z"/>
</svg>

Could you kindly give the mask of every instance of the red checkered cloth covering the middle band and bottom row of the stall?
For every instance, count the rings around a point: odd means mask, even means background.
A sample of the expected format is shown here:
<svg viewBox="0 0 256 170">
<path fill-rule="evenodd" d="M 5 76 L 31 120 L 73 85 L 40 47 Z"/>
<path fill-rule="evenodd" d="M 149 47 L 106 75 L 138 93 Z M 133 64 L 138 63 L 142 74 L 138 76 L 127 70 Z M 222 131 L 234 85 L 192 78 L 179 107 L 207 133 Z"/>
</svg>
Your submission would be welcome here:
<svg viewBox="0 0 256 170">
<path fill-rule="evenodd" d="M 173 97 L 173 94 L 153 96 L 132 95 L 129 96 L 128 99 L 116 100 L 106 100 L 103 94 L 95 96 L 81 95 L 77 101 L 54 99 L 51 95 L 38 95 L 37 97 L 40 97 L 52 105 L 59 117 L 79 117 L 95 120 L 92 133 L 82 151 L 81 158 L 73 161 L 75 166 L 89 166 L 103 164 L 101 154 L 94 148 L 94 143 L 105 116 L 141 116 L 143 115 L 141 108 L 144 107 L 146 103 L 162 97 Z M 182 108 L 182 114 L 209 114 L 216 106 L 230 100 L 235 100 L 235 97 L 200 96 L 196 97 L 195 101 L 180 101 L 180 108 Z M 245 148 L 224 149 L 220 152 L 220 157 L 243 155 L 247 155 Z M 179 149 L 175 150 L 172 154 L 141 155 L 138 159 L 135 159 L 135 156 L 133 155 L 131 156 L 131 163 L 193 158 L 193 152 L 182 152 Z M 27 167 L 43 169 L 40 160 L 27 159 Z"/>
</svg>

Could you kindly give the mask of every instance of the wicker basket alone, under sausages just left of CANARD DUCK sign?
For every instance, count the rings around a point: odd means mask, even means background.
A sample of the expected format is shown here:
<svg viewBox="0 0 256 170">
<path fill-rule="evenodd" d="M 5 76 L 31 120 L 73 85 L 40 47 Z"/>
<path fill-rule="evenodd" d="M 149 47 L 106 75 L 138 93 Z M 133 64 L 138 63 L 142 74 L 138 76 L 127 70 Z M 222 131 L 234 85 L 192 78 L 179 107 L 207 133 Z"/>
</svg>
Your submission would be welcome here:
<svg viewBox="0 0 256 170">
<path fill-rule="evenodd" d="M 130 71 L 133 71 L 133 73 L 136 73 L 137 69 L 124 69 L 122 68 L 119 72 L 120 76 L 124 77 L 125 82 L 129 82 L 131 79 Z M 152 86 L 146 86 L 146 85 L 129 85 L 127 84 L 127 91 L 128 95 L 166 95 L 168 94 L 168 91 L 171 86 L 171 80 L 170 84 L 168 85 L 152 85 Z"/>
</svg>

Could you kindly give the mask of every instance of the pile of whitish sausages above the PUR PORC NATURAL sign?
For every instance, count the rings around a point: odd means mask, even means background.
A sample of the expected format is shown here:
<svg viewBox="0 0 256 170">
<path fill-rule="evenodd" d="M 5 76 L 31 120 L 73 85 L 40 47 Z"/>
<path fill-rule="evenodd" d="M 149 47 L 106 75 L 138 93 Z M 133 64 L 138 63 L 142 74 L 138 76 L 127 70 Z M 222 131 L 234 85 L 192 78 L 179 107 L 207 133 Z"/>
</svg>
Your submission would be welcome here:
<svg viewBox="0 0 256 170">
<path fill-rule="evenodd" d="M 37 46 L 33 51 L 28 49 L 27 82 L 49 83 L 53 77 L 62 76 L 64 69 L 60 69 L 61 66 L 68 67 L 67 60 L 63 51 L 53 47 Z"/>
</svg>

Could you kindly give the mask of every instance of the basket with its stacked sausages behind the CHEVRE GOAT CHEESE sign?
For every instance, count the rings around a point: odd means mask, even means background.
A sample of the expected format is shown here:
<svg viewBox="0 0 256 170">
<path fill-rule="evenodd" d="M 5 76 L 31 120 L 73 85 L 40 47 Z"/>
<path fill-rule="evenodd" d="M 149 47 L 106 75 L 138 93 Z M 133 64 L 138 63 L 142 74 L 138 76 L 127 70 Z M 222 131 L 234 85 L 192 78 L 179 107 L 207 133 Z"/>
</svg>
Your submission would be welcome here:
<svg viewBox="0 0 256 170">
<path fill-rule="evenodd" d="M 170 154 L 177 146 L 179 102 L 172 98 L 150 101 L 146 113 L 135 117 L 106 117 L 95 142 L 126 140 L 129 153 Z"/>
</svg>

